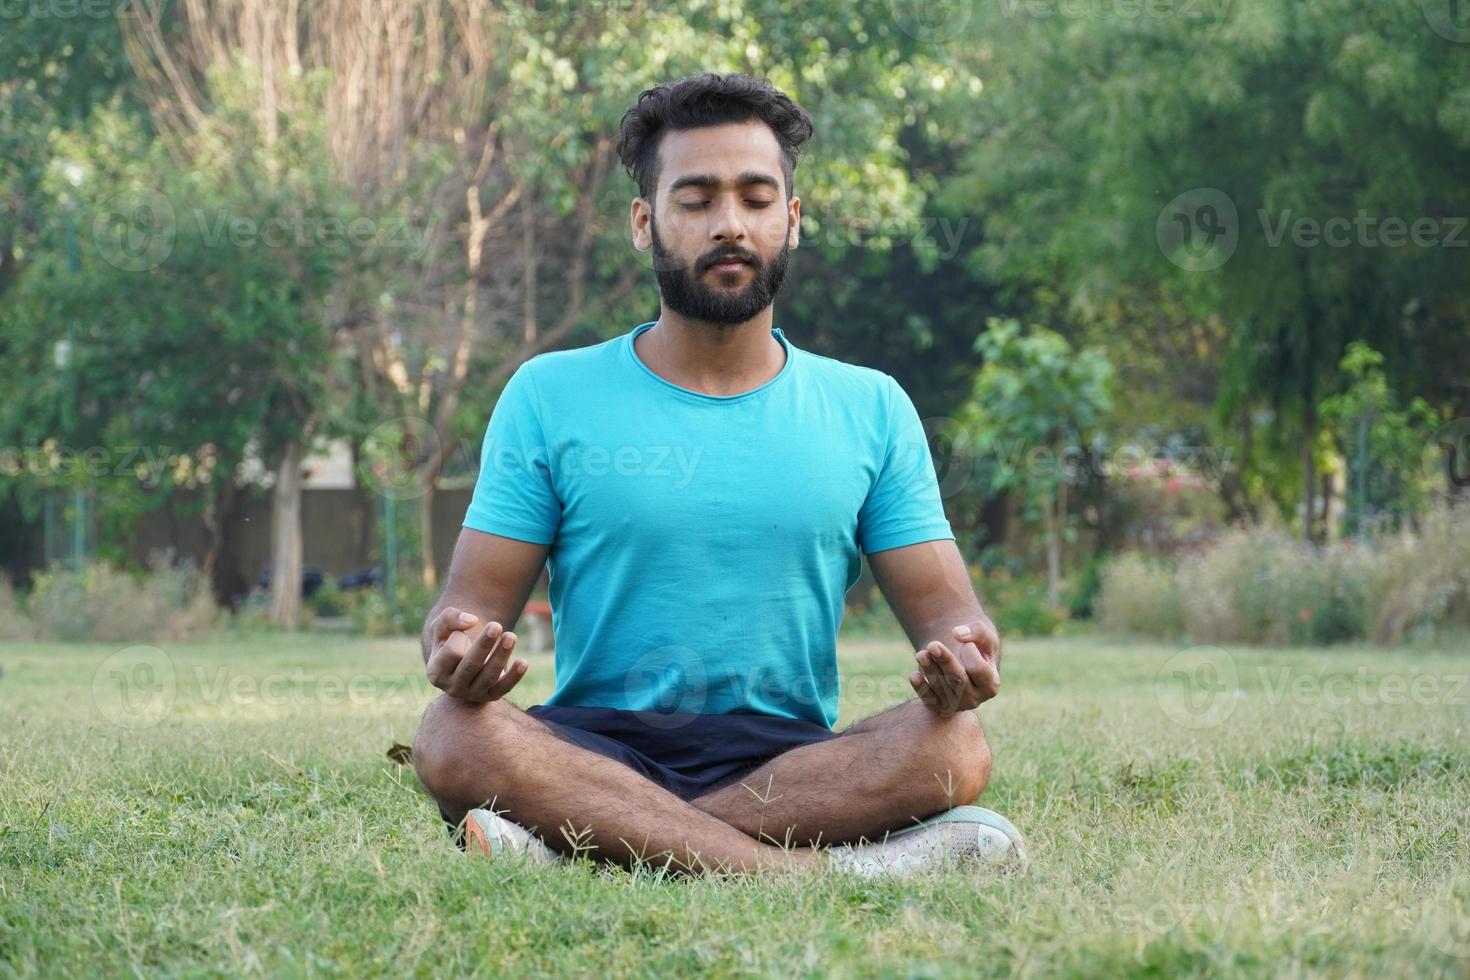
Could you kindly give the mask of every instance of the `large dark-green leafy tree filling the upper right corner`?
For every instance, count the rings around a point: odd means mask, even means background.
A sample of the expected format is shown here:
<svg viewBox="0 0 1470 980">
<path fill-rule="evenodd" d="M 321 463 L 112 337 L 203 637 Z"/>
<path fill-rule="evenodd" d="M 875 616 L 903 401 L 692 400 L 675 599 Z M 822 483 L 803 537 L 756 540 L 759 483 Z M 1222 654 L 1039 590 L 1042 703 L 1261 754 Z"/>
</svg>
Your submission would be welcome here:
<svg viewBox="0 0 1470 980">
<path fill-rule="evenodd" d="M 1416 357 L 1466 336 L 1470 291 L 1454 245 L 1470 50 L 1424 10 L 1250 0 L 1201 24 L 1001 4 L 978 21 L 988 97 L 953 190 L 985 215 L 973 260 L 1082 320 L 1117 300 L 1148 316 L 1155 295 L 1220 317 L 1220 435 L 1267 467 L 1254 485 L 1295 489 L 1307 536 L 1317 406 L 1348 342 L 1383 351 L 1395 386 L 1466 398 L 1463 361 Z"/>
</svg>

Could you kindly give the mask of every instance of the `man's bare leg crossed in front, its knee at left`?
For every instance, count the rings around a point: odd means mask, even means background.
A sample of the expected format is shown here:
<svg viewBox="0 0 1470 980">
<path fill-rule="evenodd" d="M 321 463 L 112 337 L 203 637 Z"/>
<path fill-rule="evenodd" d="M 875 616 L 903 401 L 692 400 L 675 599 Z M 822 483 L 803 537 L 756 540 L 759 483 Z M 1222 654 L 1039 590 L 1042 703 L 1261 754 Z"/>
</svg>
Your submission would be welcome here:
<svg viewBox="0 0 1470 980">
<path fill-rule="evenodd" d="M 423 716 L 413 760 L 451 817 L 490 804 L 562 852 L 575 840 L 619 864 L 672 858 L 691 871 L 794 870 L 820 860 L 753 839 L 506 701 L 441 696 Z"/>
</svg>

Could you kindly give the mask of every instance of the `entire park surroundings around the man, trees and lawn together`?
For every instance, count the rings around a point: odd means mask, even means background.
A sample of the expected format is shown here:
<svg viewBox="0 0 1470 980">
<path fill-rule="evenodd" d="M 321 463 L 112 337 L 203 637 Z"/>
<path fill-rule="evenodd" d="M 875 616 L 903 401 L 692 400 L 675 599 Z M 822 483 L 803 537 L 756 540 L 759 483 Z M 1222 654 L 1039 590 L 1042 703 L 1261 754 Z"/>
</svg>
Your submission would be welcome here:
<svg viewBox="0 0 1470 980">
<path fill-rule="evenodd" d="M 1466 13 L 0 0 L 0 974 L 1467 976 Z M 925 419 L 1025 876 L 470 861 L 407 764 L 700 69 L 816 119 L 776 323 Z M 839 727 L 908 655 L 864 579 Z"/>
</svg>

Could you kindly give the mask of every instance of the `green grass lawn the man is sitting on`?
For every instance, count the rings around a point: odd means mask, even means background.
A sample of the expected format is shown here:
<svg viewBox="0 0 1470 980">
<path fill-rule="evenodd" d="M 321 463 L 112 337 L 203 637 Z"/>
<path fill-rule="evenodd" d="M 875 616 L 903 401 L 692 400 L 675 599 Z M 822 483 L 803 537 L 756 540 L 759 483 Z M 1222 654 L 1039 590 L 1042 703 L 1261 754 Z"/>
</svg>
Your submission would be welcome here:
<svg viewBox="0 0 1470 980">
<path fill-rule="evenodd" d="M 907 689 L 903 642 L 842 661 L 839 727 Z M 1467 674 L 1017 641 L 982 802 L 1029 874 L 691 882 L 453 849 L 385 757 L 413 641 L 9 645 L 0 974 L 1470 977 Z"/>
</svg>

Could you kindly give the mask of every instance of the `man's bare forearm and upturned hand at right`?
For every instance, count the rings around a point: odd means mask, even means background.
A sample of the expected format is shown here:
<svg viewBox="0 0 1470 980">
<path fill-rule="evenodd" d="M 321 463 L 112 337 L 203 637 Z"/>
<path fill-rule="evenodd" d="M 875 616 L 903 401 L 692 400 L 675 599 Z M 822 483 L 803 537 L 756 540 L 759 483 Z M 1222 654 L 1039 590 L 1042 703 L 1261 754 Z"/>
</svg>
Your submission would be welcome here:
<svg viewBox="0 0 1470 980">
<path fill-rule="evenodd" d="M 1000 693 L 1000 635 L 953 541 L 876 551 L 867 563 L 914 645 L 908 683 L 926 705 L 948 717 Z"/>
</svg>

